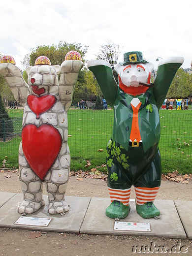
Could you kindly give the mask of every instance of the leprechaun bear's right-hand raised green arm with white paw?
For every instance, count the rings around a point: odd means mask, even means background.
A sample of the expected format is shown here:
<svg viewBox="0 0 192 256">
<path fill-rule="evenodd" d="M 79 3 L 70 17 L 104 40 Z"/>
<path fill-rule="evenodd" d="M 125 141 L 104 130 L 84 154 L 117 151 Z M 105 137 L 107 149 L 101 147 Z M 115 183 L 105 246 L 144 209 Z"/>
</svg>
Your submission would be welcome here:
<svg viewBox="0 0 192 256">
<path fill-rule="evenodd" d="M 153 86 L 154 98 L 159 108 L 167 95 L 175 73 L 183 62 L 183 57 L 169 57 L 160 62 Z"/>
</svg>

